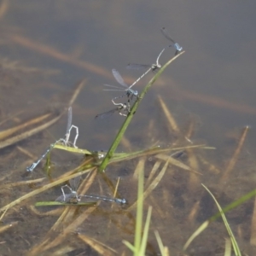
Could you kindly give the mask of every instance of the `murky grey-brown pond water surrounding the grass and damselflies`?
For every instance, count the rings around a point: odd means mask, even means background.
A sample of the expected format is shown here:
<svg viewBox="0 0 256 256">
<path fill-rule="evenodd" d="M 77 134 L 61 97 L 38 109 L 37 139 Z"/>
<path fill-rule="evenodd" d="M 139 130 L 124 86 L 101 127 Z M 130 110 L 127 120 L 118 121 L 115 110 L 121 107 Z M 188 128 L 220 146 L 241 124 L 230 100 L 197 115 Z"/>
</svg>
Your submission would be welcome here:
<svg viewBox="0 0 256 256">
<path fill-rule="evenodd" d="M 125 66 L 130 62 L 153 63 L 160 49 L 169 43 L 160 33 L 160 27 L 166 26 L 186 52 L 167 67 L 149 90 L 125 133 L 127 141 L 121 143 L 119 151 L 131 152 L 155 144 L 171 146 L 180 134 L 187 134 L 191 123 L 196 127 L 191 137 L 194 144 L 207 143 L 217 148 L 193 150 L 200 164 L 192 168 L 203 176 L 195 178 L 189 172 L 169 167 L 145 201 L 145 210 L 148 205 L 154 207 L 148 255 L 159 253 L 154 230 L 160 232 L 170 253 L 177 255 L 198 226 L 217 212 L 201 183 L 212 190 L 223 207 L 255 187 L 255 7 L 253 1 L 247 4 L 3 1 L 0 6 L 1 130 L 44 113 L 57 116 L 67 107 L 75 84 L 86 79 L 73 104 L 73 124 L 79 126 L 77 144 L 79 148 L 107 150 L 123 117 L 115 113 L 108 119 L 94 119 L 97 113 L 113 108 L 110 100 L 119 95 L 102 91 L 102 84 L 116 84 L 112 68 L 118 69 L 128 84 L 137 79 L 142 72 L 126 70 Z M 167 49 L 161 63 L 172 55 L 174 49 Z M 152 73 L 139 82 L 136 89 L 142 90 L 150 77 Z M 177 120 L 181 129 L 178 136 L 169 130 L 158 96 Z M 26 166 L 32 159 L 20 148 L 35 156 L 42 154 L 50 143 L 65 134 L 66 122 L 65 114 L 43 132 L 1 149 L 1 207 L 40 186 L 20 185 L 7 189 L 3 187 L 6 183 L 45 177 L 42 166 L 26 177 Z M 222 172 L 229 165 L 245 125 L 251 125 L 252 129 L 223 187 L 219 183 Z M 176 146 L 185 144 L 189 143 L 183 138 Z M 193 155 L 184 154 L 179 160 L 193 166 Z M 210 171 L 200 158 L 218 170 Z M 52 154 L 54 177 L 73 169 L 81 160 L 81 155 L 55 150 Z M 109 166 L 107 172 L 113 183 L 117 177 L 121 178 L 119 195 L 130 203 L 137 197 L 137 180 L 133 177 L 137 162 L 138 159 L 121 162 Z M 145 182 L 155 162 L 154 157 L 146 158 Z M 162 167 L 163 163 L 160 169 Z M 102 177 L 96 177 L 91 192 L 97 193 L 99 189 L 104 191 L 102 194 L 110 193 Z M 15 224 L 1 233 L 0 255 L 27 254 L 48 235 L 53 239 L 61 234 L 60 229 L 48 233 L 61 212 L 42 216 L 30 208 L 36 201 L 54 201 L 60 193 L 57 186 L 6 212 L 3 224 Z M 76 209 L 71 219 L 85 211 L 84 207 L 73 208 Z M 45 209 L 38 211 L 46 212 Z M 125 251 L 122 240 L 133 241 L 135 216 L 135 211 L 127 213 L 122 207 L 102 202 L 75 231 L 102 241 L 120 254 Z M 253 201 L 227 214 L 241 249 L 248 255 L 255 253 L 250 244 L 252 216 Z M 67 225 L 63 223 L 63 230 Z M 223 222 L 216 221 L 193 241 L 188 254 L 218 255 L 223 252 L 226 236 Z M 62 247 L 63 255 L 98 255 L 91 244 L 84 243 L 74 232 L 58 247 L 50 247 L 44 253 L 39 251 L 39 254 L 49 255 Z M 129 254 L 126 249 L 126 255 Z"/>
</svg>

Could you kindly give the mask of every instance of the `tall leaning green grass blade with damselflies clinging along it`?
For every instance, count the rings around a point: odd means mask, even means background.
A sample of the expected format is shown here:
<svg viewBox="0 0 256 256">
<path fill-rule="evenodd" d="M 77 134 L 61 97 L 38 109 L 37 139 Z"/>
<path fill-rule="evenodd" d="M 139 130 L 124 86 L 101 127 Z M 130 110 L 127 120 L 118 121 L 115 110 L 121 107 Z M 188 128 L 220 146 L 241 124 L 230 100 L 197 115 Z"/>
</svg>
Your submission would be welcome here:
<svg viewBox="0 0 256 256">
<path fill-rule="evenodd" d="M 128 116 L 125 119 L 125 122 L 123 123 L 123 125 L 119 129 L 119 132 L 118 132 L 117 136 L 115 137 L 115 139 L 113 141 L 113 144 L 109 148 L 108 153 L 106 154 L 105 158 L 102 160 L 102 164 L 101 164 L 101 166 L 99 166 L 99 171 L 100 172 L 103 172 L 105 170 L 105 168 L 108 166 L 109 160 L 112 158 L 114 151 L 118 147 L 123 135 L 125 134 L 125 131 L 126 131 L 128 125 L 131 122 L 131 119 L 133 118 L 133 114 L 136 113 L 137 107 L 139 106 L 140 102 L 143 100 L 143 97 L 148 92 L 151 85 L 154 84 L 155 80 L 159 78 L 160 74 L 164 72 L 166 67 L 168 67 L 172 63 L 172 61 L 175 61 L 177 59 L 177 57 L 179 55 L 182 55 L 183 53 L 184 53 L 184 51 L 181 52 L 180 54 L 176 55 L 175 57 L 173 57 L 170 61 L 167 61 L 166 64 L 163 67 L 160 68 L 159 72 L 154 75 L 153 79 L 151 79 L 149 81 L 149 83 L 146 85 L 142 94 L 139 96 L 137 101 L 133 104 L 133 106 L 131 108 L 131 113 L 128 114 Z"/>
</svg>

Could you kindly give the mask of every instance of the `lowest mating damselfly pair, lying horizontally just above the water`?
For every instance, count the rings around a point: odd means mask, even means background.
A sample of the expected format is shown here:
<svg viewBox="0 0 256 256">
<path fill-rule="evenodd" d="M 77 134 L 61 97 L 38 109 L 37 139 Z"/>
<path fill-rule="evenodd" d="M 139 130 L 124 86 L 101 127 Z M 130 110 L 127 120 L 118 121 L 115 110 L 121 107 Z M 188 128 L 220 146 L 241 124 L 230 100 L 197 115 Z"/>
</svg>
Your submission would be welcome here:
<svg viewBox="0 0 256 256">
<path fill-rule="evenodd" d="M 80 182 L 80 177 L 73 178 L 69 181 L 69 185 L 64 185 L 61 187 L 62 195 L 59 196 L 55 201 L 60 201 L 60 202 L 66 202 L 66 203 L 79 203 L 81 199 L 84 198 L 90 198 L 93 200 L 98 200 L 98 201 L 111 201 L 119 204 L 126 204 L 126 200 L 119 199 L 119 198 L 111 198 L 107 196 L 102 196 L 102 195 L 78 195 L 78 187 L 79 187 L 79 182 Z M 69 194 L 65 194 L 64 188 L 67 188 L 70 190 Z"/>
</svg>

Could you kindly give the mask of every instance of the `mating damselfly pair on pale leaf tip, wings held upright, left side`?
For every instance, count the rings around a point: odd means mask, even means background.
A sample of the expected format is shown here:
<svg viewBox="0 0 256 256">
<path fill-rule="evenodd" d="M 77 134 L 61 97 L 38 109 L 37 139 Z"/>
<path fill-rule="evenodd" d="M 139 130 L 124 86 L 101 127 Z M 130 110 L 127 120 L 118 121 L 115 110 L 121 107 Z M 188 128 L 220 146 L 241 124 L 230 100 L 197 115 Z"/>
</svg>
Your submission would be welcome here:
<svg viewBox="0 0 256 256">
<path fill-rule="evenodd" d="M 26 171 L 27 172 L 32 172 L 38 166 L 38 164 L 41 162 L 41 160 L 43 160 L 44 157 L 49 153 L 49 151 L 52 148 L 55 147 L 55 145 L 57 143 L 63 143 L 65 146 L 70 144 L 69 137 L 70 137 L 71 130 L 73 128 L 76 130 L 76 136 L 73 140 L 73 143 L 71 143 L 71 144 L 73 144 L 74 148 L 78 148 L 76 146 L 76 143 L 77 143 L 77 139 L 79 137 L 79 127 L 75 126 L 75 125 L 72 125 L 72 107 L 69 107 L 68 110 L 67 110 L 67 131 L 66 131 L 66 134 L 65 134 L 65 138 L 60 138 L 59 140 L 55 141 L 55 143 L 50 144 L 49 148 L 47 148 L 45 150 L 44 154 L 42 154 L 36 162 L 33 162 L 31 166 L 26 167 Z"/>
</svg>

